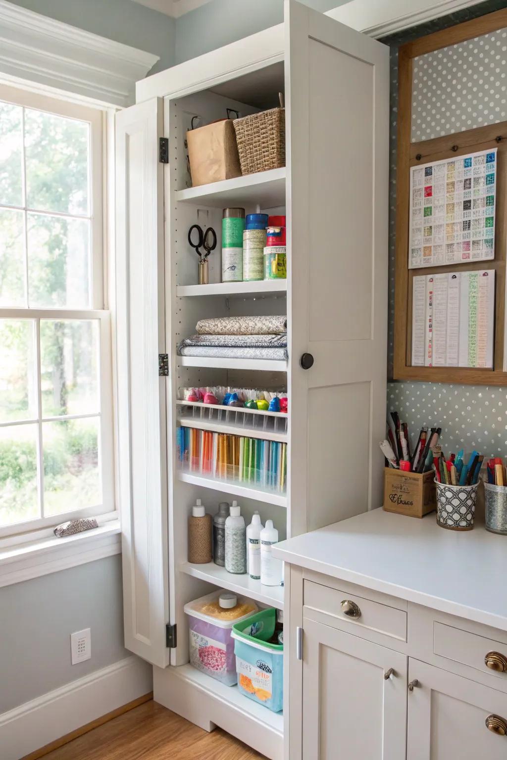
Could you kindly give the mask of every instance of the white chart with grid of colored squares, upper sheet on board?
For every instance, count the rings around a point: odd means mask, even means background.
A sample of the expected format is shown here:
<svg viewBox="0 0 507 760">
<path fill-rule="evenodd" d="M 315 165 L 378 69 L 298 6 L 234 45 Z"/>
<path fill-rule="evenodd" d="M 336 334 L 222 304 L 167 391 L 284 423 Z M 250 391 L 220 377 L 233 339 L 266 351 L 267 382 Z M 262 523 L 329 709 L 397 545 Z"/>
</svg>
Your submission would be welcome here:
<svg viewBox="0 0 507 760">
<path fill-rule="evenodd" d="M 495 258 L 496 148 L 410 169 L 409 269 Z"/>
</svg>

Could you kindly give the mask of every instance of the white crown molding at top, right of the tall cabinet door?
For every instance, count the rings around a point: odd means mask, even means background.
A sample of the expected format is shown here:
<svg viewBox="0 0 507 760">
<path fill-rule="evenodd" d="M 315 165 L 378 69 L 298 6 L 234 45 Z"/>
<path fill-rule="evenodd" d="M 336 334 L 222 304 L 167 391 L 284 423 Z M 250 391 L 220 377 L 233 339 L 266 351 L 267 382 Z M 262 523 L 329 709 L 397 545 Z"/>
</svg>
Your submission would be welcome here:
<svg viewBox="0 0 507 760">
<path fill-rule="evenodd" d="M 376 40 L 477 5 L 477 0 L 351 0 L 326 15 Z M 410 10 L 407 10 L 407 6 Z"/>
</svg>

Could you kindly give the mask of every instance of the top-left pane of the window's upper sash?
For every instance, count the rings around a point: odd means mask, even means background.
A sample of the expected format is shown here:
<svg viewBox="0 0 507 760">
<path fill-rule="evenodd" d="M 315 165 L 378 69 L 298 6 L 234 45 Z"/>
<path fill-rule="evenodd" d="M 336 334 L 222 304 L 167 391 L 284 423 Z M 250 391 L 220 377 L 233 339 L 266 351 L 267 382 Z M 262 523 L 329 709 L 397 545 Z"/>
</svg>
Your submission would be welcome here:
<svg viewBox="0 0 507 760">
<path fill-rule="evenodd" d="M 23 205 L 23 109 L 0 103 L 0 204 Z"/>
</svg>

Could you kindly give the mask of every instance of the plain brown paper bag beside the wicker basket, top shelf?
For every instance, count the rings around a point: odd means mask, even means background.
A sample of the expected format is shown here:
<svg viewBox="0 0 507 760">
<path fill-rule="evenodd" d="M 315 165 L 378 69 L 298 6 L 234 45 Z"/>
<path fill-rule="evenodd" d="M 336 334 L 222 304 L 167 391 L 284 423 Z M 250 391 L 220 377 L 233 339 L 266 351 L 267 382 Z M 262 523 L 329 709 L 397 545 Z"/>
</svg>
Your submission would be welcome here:
<svg viewBox="0 0 507 760">
<path fill-rule="evenodd" d="M 232 119 L 187 132 L 192 186 L 241 176 Z"/>
</svg>

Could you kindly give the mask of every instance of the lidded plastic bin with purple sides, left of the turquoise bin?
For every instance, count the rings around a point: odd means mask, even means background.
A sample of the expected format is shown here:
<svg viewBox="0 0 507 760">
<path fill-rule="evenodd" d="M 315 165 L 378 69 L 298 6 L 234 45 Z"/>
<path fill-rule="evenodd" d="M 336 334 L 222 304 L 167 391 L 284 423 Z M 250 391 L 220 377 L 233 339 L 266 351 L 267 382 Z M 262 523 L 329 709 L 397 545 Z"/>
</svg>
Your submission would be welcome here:
<svg viewBox="0 0 507 760">
<path fill-rule="evenodd" d="M 226 686 L 234 686 L 238 679 L 231 629 L 256 613 L 257 605 L 227 591 L 214 591 L 185 604 L 184 609 L 189 616 L 190 663 Z"/>
</svg>

